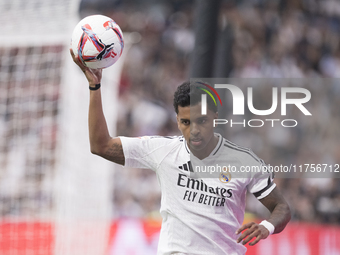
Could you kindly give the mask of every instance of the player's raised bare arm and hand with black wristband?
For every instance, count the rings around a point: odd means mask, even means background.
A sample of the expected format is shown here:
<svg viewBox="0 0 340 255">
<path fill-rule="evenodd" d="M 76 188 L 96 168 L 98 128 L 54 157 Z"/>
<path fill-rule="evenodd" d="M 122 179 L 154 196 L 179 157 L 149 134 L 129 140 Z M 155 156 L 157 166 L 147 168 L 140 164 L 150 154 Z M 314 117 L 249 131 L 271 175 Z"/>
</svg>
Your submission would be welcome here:
<svg viewBox="0 0 340 255">
<path fill-rule="evenodd" d="M 73 61 L 85 74 L 90 86 L 89 137 L 91 152 L 117 164 L 124 165 L 125 157 L 122 143 L 119 138 L 110 136 L 103 113 L 100 85 L 98 85 L 101 82 L 102 70 L 90 69 L 84 66 L 73 54 L 72 49 L 70 53 Z"/>
</svg>

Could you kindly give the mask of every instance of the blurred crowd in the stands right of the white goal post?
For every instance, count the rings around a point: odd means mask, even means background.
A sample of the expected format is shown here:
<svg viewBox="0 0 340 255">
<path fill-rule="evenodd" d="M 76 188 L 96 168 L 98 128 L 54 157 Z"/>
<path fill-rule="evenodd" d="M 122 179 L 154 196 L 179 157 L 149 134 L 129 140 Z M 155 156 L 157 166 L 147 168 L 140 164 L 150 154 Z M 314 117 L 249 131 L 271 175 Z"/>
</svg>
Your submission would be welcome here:
<svg viewBox="0 0 340 255">
<path fill-rule="evenodd" d="M 232 58 L 230 73 L 224 77 L 314 81 L 299 84 L 311 91 L 308 107 L 313 116 L 308 119 L 293 109 L 288 116 L 299 121 L 296 128 L 230 128 L 227 138 L 252 148 L 270 165 L 340 163 L 336 142 L 340 137 L 340 84 L 336 79 L 327 84 L 325 80 L 315 82 L 340 76 L 340 2 L 221 2 L 220 30 L 231 28 L 233 38 L 232 45 L 226 45 L 232 49 Z M 102 6 L 100 2 L 82 2 L 82 16 L 93 9 L 102 11 L 131 33 L 134 41 L 120 83 L 117 134 L 179 134 L 172 100 L 176 87 L 190 77 L 194 3 L 130 0 Z M 268 97 L 271 99 L 270 93 Z M 297 176 L 276 178 L 291 205 L 293 220 L 339 223 L 339 179 L 331 178 L 332 174 L 325 175 L 328 178 Z M 160 188 L 151 170 L 115 171 L 115 217 L 157 215 L 159 206 Z M 249 195 L 248 212 L 261 218 L 265 210 Z"/>
</svg>

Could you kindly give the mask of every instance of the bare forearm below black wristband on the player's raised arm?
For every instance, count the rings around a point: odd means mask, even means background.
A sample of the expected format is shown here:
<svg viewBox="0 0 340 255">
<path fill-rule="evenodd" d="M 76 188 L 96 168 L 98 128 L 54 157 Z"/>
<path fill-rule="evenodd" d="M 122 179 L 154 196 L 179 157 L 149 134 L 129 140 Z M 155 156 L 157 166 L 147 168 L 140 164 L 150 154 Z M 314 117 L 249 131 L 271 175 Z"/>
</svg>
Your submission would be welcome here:
<svg viewBox="0 0 340 255">
<path fill-rule="evenodd" d="M 100 154 L 110 140 L 105 116 L 103 113 L 100 89 L 90 91 L 89 137 L 91 152 Z"/>
</svg>

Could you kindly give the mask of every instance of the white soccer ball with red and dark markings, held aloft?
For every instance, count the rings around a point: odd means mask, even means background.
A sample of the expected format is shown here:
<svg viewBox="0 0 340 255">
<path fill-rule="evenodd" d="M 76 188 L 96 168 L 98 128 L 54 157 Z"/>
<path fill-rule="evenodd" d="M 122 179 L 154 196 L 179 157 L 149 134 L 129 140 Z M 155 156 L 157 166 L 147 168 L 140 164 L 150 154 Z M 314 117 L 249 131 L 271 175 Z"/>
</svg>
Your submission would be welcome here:
<svg viewBox="0 0 340 255">
<path fill-rule="evenodd" d="M 72 50 L 89 68 L 106 68 L 122 55 L 124 38 L 111 18 L 91 15 L 82 19 L 72 33 Z"/>
</svg>

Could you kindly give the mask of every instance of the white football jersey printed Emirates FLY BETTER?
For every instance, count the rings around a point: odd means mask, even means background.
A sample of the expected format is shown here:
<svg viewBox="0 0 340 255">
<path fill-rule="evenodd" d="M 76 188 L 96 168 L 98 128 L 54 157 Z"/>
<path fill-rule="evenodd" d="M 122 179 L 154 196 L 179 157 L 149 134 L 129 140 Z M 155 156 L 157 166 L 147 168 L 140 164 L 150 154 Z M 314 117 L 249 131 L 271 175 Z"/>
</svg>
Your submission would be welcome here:
<svg viewBox="0 0 340 255">
<path fill-rule="evenodd" d="M 120 137 L 125 166 L 154 170 L 161 186 L 159 255 L 240 255 L 247 250 L 236 243 L 235 234 L 243 223 L 246 192 L 261 199 L 275 183 L 267 172 L 232 172 L 264 162 L 251 150 L 215 135 L 219 141 L 203 160 L 190 153 L 183 136 Z M 202 173 L 204 166 L 223 171 Z"/>
</svg>

